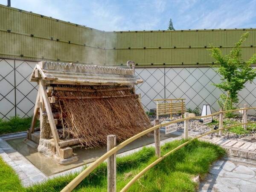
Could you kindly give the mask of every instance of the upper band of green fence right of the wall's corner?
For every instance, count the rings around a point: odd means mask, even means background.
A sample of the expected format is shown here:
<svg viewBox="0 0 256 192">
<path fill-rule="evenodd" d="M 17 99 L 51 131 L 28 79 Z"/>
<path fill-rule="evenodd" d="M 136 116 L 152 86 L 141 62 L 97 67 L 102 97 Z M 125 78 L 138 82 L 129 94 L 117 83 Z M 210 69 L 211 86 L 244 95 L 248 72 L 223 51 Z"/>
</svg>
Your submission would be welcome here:
<svg viewBox="0 0 256 192">
<path fill-rule="evenodd" d="M 116 46 L 128 47 L 204 47 L 234 45 L 244 32 L 250 37 L 244 45 L 255 43 L 256 30 L 202 30 L 202 31 L 165 31 L 165 32 L 118 32 Z"/>
</svg>

